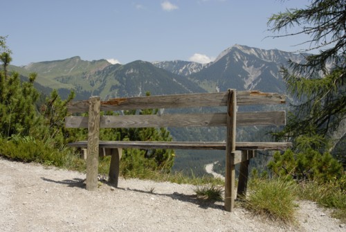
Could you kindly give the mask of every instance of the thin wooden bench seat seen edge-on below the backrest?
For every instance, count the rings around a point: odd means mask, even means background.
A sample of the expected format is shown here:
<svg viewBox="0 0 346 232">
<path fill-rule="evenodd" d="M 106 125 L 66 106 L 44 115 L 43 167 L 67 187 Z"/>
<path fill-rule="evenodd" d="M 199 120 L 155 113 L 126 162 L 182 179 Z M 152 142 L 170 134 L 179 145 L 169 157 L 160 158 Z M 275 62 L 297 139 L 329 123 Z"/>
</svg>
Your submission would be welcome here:
<svg viewBox="0 0 346 232">
<path fill-rule="evenodd" d="M 69 143 L 70 147 L 86 148 L 87 141 Z M 287 142 L 236 142 L 236 150 L 286 150 Z M 158 142 L 158 141 L 100 141 L 100 148 L 226 150 L 226 142 Z"/>
</svg>

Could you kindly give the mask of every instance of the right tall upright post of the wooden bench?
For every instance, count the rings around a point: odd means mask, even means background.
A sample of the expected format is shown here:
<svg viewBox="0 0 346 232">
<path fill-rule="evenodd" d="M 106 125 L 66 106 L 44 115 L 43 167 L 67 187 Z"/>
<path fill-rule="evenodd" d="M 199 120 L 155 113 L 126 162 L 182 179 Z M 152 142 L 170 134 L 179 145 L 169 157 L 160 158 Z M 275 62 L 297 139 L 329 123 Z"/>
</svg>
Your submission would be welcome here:
<svg viewBox="0 0 346 232">
<path fill-rule="evenodd" d="M 226 142 L 226 176 L 225 209 L 233 211 L 235 205 L 235 134 L 237 117 L 237 96 L 235 89 L 228 90 L 227 104 L 227 142 Z"/>
</svg>

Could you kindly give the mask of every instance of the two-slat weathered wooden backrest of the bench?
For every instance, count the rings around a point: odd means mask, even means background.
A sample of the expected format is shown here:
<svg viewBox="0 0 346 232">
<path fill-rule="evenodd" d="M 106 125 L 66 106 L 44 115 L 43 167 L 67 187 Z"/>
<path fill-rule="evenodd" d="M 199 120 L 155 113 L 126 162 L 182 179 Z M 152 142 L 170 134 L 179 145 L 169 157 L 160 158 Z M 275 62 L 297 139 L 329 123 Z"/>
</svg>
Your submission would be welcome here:
<svg viewBox="0 0 346 232">
<path fill-rule="evenodd" d="M 96 101 L 100 104 L 97 111 L 120 111 L 131 109 L 172 109 L 191 107 L 226 107 L 229 91 L 221 93 L 188 93 L 168 96 L 144 96 L 133 98 L 115 98 Z M 93 97 L 95 98 L 95 97 Z M 237 91 L 236 105 L 282 104 L 285 97 L 278 93 L 260 91 Z M 71 102 L 70 113 L 89 112 L 91 100 Z M 99 108 L 98 108 L 99 107 Z M 66 127 L 87 128 L 89 118 L 84 116 L 66 117 Z M 285 111 L 237 112 L 236 125 L 285 125 Z M 100 116 L 100 128 L 124 127 L 218 127 L 227 126 L 227 112 L 195 114 L 153 114 Z"/>
</svg>

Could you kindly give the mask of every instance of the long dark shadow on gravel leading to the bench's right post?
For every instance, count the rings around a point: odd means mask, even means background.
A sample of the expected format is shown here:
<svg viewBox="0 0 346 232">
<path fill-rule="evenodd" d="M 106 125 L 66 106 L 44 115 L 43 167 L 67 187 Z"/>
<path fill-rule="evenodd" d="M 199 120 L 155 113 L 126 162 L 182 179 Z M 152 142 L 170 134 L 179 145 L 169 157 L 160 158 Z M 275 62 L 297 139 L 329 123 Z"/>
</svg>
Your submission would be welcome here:
<svg viewBox="0 0 346 232">
<path fill-rule="evenodd" d="M 197 195 L 186 195 L 182 193 L 172 193 L 172 194 L 161 194 L 161 193 L 154 193 L 152 191 L 145 191 L 145 190 L 138 190 L 138 189 L 131 189 L 127 188 L 129 191 L 135 191 L 139 193 L 147 193 L 151 195 L 157 195 L 157 196 L 166 196 L 171 197 L 172 199 L 176 199 L 181 202 L 190 202 L 193 204 L 197 204 L 200 208 L 215 208 L 224 211 L 224 206 L 217 204 L 217 201 L 211 201 L 206 199 L 199 199 L 197 198 Z"/>
</svg>

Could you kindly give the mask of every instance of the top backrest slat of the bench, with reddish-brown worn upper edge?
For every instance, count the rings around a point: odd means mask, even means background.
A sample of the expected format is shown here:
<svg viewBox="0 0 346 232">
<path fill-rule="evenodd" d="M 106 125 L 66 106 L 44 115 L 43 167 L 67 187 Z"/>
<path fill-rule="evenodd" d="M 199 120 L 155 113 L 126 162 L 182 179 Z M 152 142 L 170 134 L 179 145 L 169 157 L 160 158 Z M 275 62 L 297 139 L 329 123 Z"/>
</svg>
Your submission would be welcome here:
<svg viewBox="0 0 346 232">
<path fill-rule="evenodd" d="M 227 95 L 228 92 L 114 98 L 102 101 L 101 111 L 181 107 L 219 107 L 227 105 Z M 237 105 L 280 104 L 284 102 L 285 96 L 278 93 L 237 91 Z M 67 109 L 71 113 L 86 112 L 89 110 L 89 101 L 82 100 L 70 102 Z"/>
</svg>

